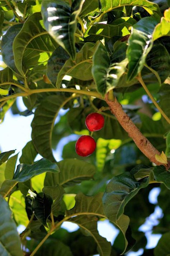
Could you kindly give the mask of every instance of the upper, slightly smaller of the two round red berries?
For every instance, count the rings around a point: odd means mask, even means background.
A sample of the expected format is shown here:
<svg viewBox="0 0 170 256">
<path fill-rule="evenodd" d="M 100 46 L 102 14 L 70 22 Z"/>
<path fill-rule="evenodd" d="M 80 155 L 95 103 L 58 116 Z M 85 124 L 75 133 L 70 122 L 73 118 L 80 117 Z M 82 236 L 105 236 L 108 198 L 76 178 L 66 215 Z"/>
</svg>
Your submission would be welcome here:
<svg viewBox="0 0 170 256">
<path fill-rule="evenodd" d="M 91 113 L 86 117 L 85 123 L 89 131 L 99 131 L 104 126 L 104 117 L 99 113 Z"/>
</svg>

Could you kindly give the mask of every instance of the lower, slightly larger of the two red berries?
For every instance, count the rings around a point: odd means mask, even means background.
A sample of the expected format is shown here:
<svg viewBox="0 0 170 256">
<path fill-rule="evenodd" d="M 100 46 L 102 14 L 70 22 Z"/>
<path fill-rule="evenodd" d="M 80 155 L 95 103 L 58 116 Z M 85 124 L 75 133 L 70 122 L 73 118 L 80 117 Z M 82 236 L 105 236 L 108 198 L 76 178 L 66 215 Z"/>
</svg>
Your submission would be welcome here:
<svg viewBox="0 0 170 256">
<path fill-rule="evenodd" d="M 81 136 L 76 142 L 76 153 L 79 156 L 90 156 L 96 148 L 95 140 L 89 135 Z"/>
</svg>

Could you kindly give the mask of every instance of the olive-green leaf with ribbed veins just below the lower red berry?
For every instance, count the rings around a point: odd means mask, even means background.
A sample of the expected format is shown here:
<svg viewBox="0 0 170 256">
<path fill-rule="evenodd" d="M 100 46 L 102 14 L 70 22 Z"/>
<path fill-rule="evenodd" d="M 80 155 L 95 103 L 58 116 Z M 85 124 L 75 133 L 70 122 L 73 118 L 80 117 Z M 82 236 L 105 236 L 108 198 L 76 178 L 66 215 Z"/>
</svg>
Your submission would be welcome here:
<svg viewBox="0 0 170 256">
<path fill-rule="evenodd" d="M 78 159 L 65 159 L 57 163 L 60 174 L 46 174 L 44 186 L 63 187 L 73 186 L 81 183 L 82 180 L 92 179 L 95 174 L 95 167 L 91 163 L 87 163 Z"/>
</svg>

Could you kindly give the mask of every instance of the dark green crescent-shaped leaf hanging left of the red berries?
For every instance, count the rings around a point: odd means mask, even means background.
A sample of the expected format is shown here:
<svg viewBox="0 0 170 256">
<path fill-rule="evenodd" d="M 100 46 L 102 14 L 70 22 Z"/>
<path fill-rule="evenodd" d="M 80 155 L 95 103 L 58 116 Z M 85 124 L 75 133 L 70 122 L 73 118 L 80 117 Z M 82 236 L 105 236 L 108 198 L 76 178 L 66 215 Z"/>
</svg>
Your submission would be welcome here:
<svg viewBox="0 0 170 256">
<path fill-rule="evenodd" d="M 55 161 L 52 154 L 52 129 L 59 110 L 70 100 L 62 95 L 52 95 L 42 100 L 34 113 L 32 141 L 41 156 Z"/>
</svg>

